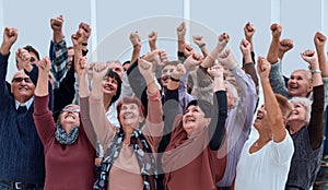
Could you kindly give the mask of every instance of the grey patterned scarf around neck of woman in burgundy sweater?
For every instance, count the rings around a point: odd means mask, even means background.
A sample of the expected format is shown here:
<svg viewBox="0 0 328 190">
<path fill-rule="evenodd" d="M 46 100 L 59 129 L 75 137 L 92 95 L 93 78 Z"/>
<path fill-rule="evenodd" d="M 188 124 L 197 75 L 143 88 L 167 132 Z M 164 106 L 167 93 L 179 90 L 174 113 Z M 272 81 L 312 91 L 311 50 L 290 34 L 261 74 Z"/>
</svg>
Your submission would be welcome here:
<svg viewBox="0 0 328 190">
<path fill-rule="evenodd" d="M 60 144 L 73 144 L 79 136 L 79 128 L 74 127 L 69 133 L 67 133 L 61 124 L 57 122 L 57 130 L 55 132 L 55 138 Z"/>
</svg>

